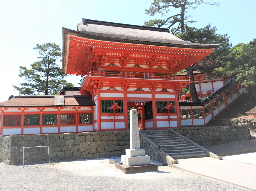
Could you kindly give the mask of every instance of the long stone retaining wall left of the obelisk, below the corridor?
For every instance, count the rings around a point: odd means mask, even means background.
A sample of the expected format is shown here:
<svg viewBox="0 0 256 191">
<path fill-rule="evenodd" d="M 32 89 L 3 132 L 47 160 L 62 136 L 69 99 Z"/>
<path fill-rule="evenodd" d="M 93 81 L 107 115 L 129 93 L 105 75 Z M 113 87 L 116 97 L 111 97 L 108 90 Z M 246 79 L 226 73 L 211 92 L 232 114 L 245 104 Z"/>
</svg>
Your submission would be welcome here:
<svg viewBox="0 0 256 191">
<path fill-rule="evenodd" d="M 20 164 L 23 147 L 50 146 L 50 160 L 120 157 L 130 148 L 130 131 L 10 135 L 0 137 L 0 161 Z M 24 163 L 47 160 L 48 147 L 26 148 Z"/>
</svg>

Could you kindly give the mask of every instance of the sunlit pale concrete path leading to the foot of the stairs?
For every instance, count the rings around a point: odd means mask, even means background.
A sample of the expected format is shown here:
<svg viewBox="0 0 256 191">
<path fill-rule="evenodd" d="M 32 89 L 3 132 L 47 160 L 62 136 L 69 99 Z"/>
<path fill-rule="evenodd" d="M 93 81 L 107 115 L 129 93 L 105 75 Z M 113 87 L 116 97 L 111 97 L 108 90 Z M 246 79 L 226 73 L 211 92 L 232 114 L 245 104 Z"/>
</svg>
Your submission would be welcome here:
<svg viewBox="0 0 256 191">
<path fill-rule="evenodd" d="M 223 160 L 211 157 L 179 159 L 178 164 L 173 164 L 173 167 L 250 190 L 256 190 L 255 159 L 256 153 L 231 155 L 223 157 Z"/>
</svg>

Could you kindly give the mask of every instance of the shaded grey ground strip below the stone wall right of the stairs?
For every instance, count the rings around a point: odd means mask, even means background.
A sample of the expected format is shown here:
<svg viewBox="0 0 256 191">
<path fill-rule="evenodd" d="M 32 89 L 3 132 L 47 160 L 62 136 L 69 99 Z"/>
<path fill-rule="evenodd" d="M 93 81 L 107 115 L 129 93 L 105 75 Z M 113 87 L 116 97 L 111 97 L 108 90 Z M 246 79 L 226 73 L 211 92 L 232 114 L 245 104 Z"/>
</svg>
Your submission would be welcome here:
<svg viewBox="0 0 256 191">
<path fill-rule="evenodd" d="M 221 145 L 204 146 L 204 148 L 218 155 L 222 153 L 256 149 L 256 141 L 236 141 Z"/>
</svg>

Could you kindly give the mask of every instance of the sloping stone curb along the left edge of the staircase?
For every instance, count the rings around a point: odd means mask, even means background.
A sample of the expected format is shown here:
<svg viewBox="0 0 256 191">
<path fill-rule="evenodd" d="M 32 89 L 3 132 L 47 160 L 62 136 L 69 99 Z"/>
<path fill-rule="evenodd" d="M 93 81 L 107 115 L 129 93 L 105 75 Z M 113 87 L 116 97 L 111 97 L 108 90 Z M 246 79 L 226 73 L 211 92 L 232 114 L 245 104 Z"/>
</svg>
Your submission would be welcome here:
<svg viewBox="0 0 256 191">
<path fill-rule="evenodd" d="M 139 131 L 139 134 L 141 136 L 141 138 L 143 138 L 145 140 L 146 143 L 148 143 L 150 145 L 150 147 L 153 149 L 153 151 L 155 153 L 157 153 L 158 155 L 160 155 L 160 157 L 168 164 L 168 165 L 172 165 L 172 164 L 178 164 L 177 160 L 174 160 L 172 157 L 170 157 L 166 152 L 164 152 L 162 149 L 158 149 L 158 146 L 151 141 L 147 136 L 144 135 L 144 133 Z"/>
</svg>

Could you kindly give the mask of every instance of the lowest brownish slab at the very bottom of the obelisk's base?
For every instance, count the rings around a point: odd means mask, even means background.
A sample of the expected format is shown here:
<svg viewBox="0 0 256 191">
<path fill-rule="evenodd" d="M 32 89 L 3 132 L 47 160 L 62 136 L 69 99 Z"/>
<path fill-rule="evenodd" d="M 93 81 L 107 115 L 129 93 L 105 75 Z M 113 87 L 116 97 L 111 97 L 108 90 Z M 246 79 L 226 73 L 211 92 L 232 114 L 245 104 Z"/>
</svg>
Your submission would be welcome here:
<svg viewBox="0 0 256 191">
<path fill-rule="evenodd" d="M 125 155 L 123 155 L 125 156 Z M 149 171 L 157 171 L 157 165 L 156 164 L 145 164 L 145 165 L 136 165 L 129 167 L 125 164 L 119 164 L 115 163 L 115 168 L 121 170 L 125 174 L 129 173 L 138 173 L 138 172 L 149 172 Z"/>
</svg>

